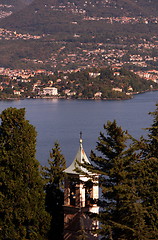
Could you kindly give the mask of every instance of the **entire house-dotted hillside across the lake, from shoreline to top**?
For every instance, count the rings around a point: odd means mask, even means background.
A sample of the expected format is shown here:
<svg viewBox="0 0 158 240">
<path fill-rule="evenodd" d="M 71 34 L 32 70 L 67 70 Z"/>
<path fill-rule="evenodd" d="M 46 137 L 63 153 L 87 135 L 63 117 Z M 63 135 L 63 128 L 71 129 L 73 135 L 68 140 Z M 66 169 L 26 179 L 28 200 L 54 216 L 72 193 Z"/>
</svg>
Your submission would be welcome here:
<svg viewBox="0 0 158 240">
<path fill-rule="evenodd" d="M 128 99 L 158 89 L 153 2 L 27 2 L 0 4 L 0 99 Z"/>
</svg>

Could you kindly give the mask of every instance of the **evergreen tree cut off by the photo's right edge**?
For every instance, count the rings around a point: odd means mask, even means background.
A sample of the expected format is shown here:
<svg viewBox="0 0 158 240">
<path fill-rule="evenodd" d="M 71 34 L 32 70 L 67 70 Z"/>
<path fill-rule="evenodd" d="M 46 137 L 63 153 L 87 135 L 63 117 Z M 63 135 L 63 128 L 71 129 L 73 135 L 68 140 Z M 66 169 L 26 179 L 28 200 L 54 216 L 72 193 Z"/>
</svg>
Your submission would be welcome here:
<svg viewBox="0 0 158 240">
<path fill-rule="evenodd" d="M 147 130 L 148 139 L 144 140 L 142 160 L 138 165 L 139 194 L 146 209 L 146 223 L 149 239 L 158 239 L 158 105 L 153 113 L 153 124 Z"/>
</svg>

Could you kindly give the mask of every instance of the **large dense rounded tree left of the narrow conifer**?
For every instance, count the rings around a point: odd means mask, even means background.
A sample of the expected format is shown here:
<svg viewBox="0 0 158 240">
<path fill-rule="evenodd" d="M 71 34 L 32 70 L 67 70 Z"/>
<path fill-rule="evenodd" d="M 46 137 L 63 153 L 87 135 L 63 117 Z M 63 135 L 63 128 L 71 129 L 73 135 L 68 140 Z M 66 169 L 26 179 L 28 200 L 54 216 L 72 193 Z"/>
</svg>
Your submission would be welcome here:
<svg viewBox="0 0 158 240">
<path fill-rule="evenodd" d="M 49 215 L 35 159 L 35 128 L 25 119 L 25 109 L 8 108 L 0 117 L 0 238 L 47 239 Z"/>
</svg>

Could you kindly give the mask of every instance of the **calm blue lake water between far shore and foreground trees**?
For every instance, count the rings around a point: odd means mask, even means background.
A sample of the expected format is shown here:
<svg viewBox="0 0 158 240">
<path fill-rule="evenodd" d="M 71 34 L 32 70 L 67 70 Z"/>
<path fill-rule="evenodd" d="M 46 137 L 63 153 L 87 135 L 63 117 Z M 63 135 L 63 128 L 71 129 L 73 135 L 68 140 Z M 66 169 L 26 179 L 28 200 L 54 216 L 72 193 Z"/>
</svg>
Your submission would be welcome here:
<svg viewBox="0 0 158 240">
<path fill-rule="evenodd" d="M 130 100 L 94 101 L 94 100 L 58 100 L 26 99 L 18 101 L 0 101 L 0 112 L 8 107 L 25 108 L 26 119 L 36 127 L 37 159 L 47 164 L 49 151 L 54 142 L 60 143 L 67 165 L 74 159 L 79 147 L 79 133 L 83 133 L 83 146 L 89 156 L 95 149 L 97 138 L 103 125 L 108 121 L 117 121 L 123 130 L 135 138 L 146 136 L 143 128 L 152 124 L 148 114 L 156 109 L 158 91 L 136 95 Z"/>
</svg>

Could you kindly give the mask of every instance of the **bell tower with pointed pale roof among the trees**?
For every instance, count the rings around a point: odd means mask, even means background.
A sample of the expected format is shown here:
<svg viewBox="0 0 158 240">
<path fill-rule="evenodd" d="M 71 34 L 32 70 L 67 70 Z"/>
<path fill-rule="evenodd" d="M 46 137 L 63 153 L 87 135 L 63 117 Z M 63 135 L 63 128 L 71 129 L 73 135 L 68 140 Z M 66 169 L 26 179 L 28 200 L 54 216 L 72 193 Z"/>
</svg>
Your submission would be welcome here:
<svg viewBox="0 0 158 240">
<path fill-rule="evenodd" d="M 99 213 L 97 205 L 99 199 L 98 175 L 88 172 L 78 163 L 90 163 L 82 145 L 82 133 L 80 133 L 80 145 L 76 157 L 71 165 L 65 169 L 64 187 L 64 240 L 98 239 L 93 230 L 98 229 L 98 221 L 92 220 L 87 212 Z M 75 169 L 84 171 L 78 173 Z M 84 238 L 85 237 L 85 238 Z M 81 238 L 80 238 L 81 239 Z"/>
</svg>

